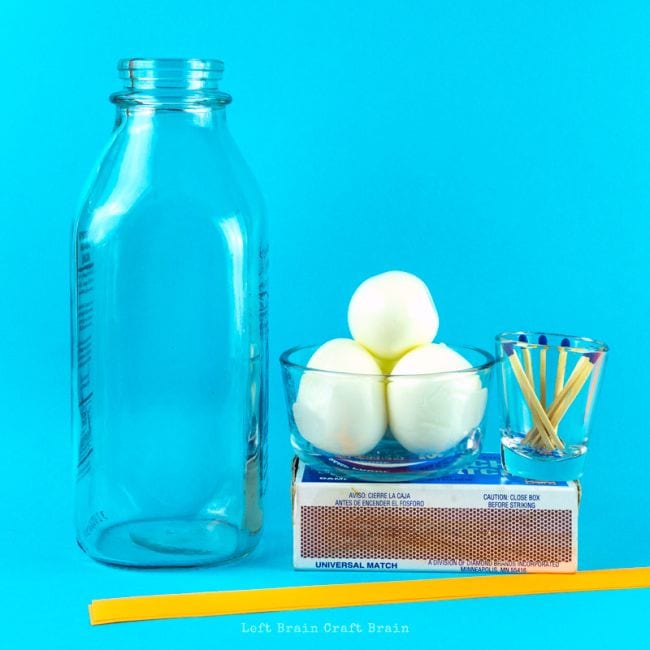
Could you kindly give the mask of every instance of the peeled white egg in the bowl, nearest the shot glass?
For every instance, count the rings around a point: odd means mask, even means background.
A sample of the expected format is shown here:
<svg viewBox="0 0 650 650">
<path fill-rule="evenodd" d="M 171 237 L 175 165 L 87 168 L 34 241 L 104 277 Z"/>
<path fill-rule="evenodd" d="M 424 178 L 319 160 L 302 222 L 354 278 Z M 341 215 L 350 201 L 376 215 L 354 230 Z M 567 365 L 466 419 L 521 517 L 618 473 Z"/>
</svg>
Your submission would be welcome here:
<svg viewBox="0 0 650 650">
<path fill-rule="evenodd" d="M 476 374 L 426 374 L 471 367 L 443 343 L 415 348 L 397 362 L 387 388 L 389 426 L 405 449 L 415 454 L 441 453 L 480 424 L 487 389 Z"/>
</svg>

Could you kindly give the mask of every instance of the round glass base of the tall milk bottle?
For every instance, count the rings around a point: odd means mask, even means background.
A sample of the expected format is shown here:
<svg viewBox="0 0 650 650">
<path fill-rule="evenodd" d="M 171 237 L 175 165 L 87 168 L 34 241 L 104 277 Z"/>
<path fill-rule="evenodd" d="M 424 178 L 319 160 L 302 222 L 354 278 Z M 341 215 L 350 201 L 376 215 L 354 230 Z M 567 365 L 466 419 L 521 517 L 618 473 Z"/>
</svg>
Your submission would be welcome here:
<svg viewBox="0 0 650 650">
<path fill-rule="evenodd" d="M 132 568 L 199 567 L 224 564 L 253 551 L 260 534 L 215 519 L 127 521 L 100 531 L 92 545 L 79 541 L 91 558 Z"/>
</svg>

